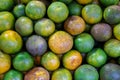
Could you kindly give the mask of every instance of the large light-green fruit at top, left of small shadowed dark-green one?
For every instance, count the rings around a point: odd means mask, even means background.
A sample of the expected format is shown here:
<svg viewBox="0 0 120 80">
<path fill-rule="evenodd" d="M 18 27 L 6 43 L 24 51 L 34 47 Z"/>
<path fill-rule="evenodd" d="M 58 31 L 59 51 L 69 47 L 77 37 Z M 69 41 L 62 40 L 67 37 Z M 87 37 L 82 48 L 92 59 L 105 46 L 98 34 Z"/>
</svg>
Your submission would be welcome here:
<svg viewBox="0 0 120 80">
<path fill-rule="evenodd" d="M 54 13 L 54 14 L 53 14 Z M 62 2 L 53 2 L 47 9 L 48 17 L 56 23 L 61 23 L 69 15 L 68 7 Z"/>
</svg>

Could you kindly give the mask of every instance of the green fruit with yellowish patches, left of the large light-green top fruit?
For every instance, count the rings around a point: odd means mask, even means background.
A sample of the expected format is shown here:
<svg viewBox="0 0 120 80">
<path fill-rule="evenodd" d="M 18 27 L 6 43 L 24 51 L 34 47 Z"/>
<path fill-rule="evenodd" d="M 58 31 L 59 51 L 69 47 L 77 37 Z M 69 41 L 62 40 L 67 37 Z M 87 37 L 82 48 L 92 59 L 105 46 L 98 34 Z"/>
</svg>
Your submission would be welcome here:
<svg viewBox="0 0 120 80">
<path fill-rule="evenodd" d="M 30 1 L 25 8 L 25 13 L 33 20 L 38 20 L 44 17 L 46 6 L 41 1 Z"/>
</svg>

